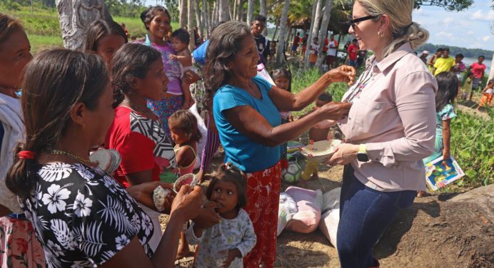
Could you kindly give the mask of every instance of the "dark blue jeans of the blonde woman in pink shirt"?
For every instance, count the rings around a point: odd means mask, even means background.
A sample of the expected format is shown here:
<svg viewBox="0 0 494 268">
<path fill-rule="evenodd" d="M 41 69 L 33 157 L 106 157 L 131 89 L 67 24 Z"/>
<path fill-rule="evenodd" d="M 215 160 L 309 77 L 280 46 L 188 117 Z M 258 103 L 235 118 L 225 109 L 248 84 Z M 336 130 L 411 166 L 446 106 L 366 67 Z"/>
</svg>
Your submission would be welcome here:
<svg viewBox="0 0 494 268">
<path fill-rule="evenodd" d="M 351 165 L 343 171 L 337 249 L 342 268 L 373 267 L 372 249 L 416 191 L 380 192 L 363 185 Z"/>
</svg>

